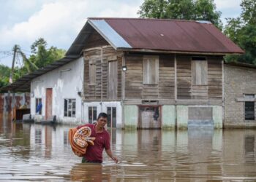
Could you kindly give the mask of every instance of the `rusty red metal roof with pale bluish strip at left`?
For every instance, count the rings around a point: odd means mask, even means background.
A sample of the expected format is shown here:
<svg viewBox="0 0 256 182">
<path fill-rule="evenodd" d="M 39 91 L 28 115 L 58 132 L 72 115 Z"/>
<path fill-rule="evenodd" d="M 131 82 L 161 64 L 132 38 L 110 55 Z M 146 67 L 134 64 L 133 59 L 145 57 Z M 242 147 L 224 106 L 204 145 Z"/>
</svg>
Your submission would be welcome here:
<svg viewBox="0 0 256 182">
<path fill-rule="evenodd" d="M 89 18 L 90 24 L 95 25 L 95 27 L 97 27 L 96 20 L 102 20 L 108 23 L 132 49 L 222 54 L 244 53 L 240 47 L 228 39 L 213 24 L 204 21 L 145 18 Z M 98 28 L 97 31 L 102 29 L 104 30 L 104 26 Z M 103 35 L 106 39 L 109 36 Z M 107 41 L 110 44 L 114 44 L 116 49 L 126 48 L 118 47 L 110 39 Z"/>
</svg>

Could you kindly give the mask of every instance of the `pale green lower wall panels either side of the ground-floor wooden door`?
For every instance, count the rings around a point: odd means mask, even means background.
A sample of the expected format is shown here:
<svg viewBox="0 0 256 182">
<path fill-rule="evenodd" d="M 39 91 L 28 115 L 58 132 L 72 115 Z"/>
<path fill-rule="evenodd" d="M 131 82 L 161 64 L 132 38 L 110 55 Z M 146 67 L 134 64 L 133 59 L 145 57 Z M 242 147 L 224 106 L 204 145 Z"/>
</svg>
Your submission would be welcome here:
<svg viewBox="0 0 256 182">
<path fill-rule="evenodd" d="M 162 106 L 161 129 L 222 128 L 222 106 Z M 139 106 L 124 106 L 124 129 L 138 128 Z M 146 129 L 146 128 L 145 128 Z"/>
</svg>

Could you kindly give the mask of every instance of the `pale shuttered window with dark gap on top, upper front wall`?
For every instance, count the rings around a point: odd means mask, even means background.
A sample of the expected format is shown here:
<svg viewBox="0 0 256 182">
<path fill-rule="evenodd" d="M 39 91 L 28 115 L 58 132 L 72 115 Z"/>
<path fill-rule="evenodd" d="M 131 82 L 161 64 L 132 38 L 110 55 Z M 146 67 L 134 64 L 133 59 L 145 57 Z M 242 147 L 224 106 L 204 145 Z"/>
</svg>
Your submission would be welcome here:
<svg viewBox="0 0 256 182">
<path fill-rule="evenodd" d="M 192 84 L 207 85 L 208 84 L 208 68 L 207 60 L 202 57 L 192 57 Z"/>
</svg>

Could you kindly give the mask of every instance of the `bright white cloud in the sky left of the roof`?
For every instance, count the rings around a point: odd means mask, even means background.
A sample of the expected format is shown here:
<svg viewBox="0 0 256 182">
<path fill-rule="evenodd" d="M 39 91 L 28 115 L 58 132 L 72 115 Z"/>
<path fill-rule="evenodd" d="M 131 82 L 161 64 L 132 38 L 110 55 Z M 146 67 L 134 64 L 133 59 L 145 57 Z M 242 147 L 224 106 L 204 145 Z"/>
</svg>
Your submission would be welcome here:
<svg viewBox="0 0 256 182">
<path fill-rule="evenodd" d="M 11 50 L 14 44 L 28 50 L 39 37 L 48 41 L 50 46 L 67 50 L 87 17 L 138 17 L 138 7 L 142 4 L 142 0 L 132 3 L 118 0 L 46 2 L 26 20 L 8 26 L 1 25 L 0 50 Z M 21 6 L 19 0 L 16 3 Z M 18 7 L 17 4 L 15 7 Z M 30 6 L 34 7 L 34 4 Z"/>
</svg>

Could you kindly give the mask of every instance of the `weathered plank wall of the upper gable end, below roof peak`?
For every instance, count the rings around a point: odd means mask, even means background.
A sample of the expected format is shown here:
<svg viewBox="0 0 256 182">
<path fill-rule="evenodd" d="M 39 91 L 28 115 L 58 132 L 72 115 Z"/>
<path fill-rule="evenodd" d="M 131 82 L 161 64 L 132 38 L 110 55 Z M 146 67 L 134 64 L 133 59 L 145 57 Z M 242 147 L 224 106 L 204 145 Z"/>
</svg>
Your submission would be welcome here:
<svg viewBox="0 0 256 182">
<path fill-rule="evenodd" d="M 116 52 L 113 47 L 100 47 L 84 50 L 84 99 L 85 100 L 110 100 L 108 99 L 108 61 L 118 61 L 117 100 L 121 100 L 121 60 L 122 52 Z M 96 61 L 96 84 L 89 83 L 89 60 Z"/>
</svg>

